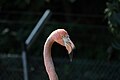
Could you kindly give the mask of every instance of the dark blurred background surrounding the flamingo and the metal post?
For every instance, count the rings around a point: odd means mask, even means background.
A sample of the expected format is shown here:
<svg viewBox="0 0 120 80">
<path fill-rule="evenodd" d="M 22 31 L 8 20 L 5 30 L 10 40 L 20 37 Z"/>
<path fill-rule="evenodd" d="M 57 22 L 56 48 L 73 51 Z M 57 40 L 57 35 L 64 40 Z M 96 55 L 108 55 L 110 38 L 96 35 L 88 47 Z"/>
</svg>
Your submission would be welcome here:
<svg viewBox="0 0 120 80">
<path fill-rule="evenodd" d="M 52 46 L 60 80 L 120 80 L 120 52 L 111 45 L 114 38 L 104 13 L 107 2 L 0 0 L 0 80 L 23 80 L 23 43 L 47 9 L 52 14 L 27 50 L 29 80 L 48 80 L 43 46 L 49 34 L 58 28 L 67 30 L 76 46 L 72 63 L 65 47 L 57 43 Z M 114 6 L 110 8 L 114 9 Z M 115 44 L 120 47 L 120 44 Z"/>
</svg>

